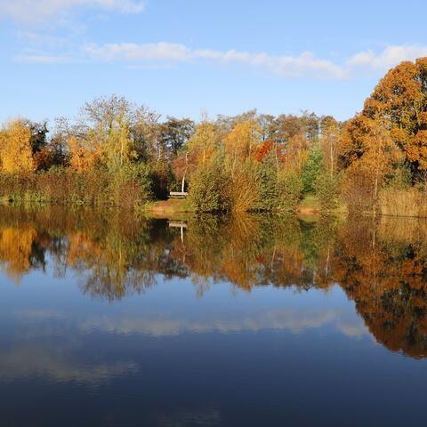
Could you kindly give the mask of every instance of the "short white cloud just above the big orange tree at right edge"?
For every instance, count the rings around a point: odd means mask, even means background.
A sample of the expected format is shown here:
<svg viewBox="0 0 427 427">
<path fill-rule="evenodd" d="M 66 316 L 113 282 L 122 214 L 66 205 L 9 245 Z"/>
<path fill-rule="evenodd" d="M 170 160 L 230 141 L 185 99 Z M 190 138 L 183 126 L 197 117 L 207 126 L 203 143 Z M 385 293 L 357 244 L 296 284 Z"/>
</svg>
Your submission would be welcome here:
<svg viewBox="0 0 427 427">
<path fill-rule="evenodd" d="M 347 60 L 347 65 L 351 68 L 387 70 L 403 60 L 415 60 L 423 56 L 427 56 L 427 46 L 418 44 L 390 45 L 380 53 L 375 53 L 372 50 L 356 53 Z"/>
</svg>

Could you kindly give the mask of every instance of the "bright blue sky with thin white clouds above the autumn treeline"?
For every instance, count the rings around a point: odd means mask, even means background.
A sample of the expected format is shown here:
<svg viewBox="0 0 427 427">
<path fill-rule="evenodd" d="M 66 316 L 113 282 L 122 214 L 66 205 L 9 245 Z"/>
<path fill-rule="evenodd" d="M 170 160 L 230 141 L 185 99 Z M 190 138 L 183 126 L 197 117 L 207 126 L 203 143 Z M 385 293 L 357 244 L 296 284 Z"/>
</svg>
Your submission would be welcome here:
<svg viewBox="0 0 427 427">
<path fill-rule="evenodd" d="M 427 56 L 423 1 L 0 0 L 0 121 L 74 117 L 117 93 L 197 119 L 351 117 Z"/>
</svg>

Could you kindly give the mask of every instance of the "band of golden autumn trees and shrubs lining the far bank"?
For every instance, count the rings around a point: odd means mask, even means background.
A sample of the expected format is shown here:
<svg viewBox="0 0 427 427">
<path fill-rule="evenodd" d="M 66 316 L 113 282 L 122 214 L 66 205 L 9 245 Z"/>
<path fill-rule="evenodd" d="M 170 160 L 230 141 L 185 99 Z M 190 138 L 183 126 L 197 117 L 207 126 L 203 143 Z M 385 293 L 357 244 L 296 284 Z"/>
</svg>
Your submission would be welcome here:
<svg viewBox="0 0 427 427">
<path fill-rule="evenodd" d="M 166 117 L 113 95 L 77 118 L 16 118 L 0 132 L 0 197 L 142 208 L 188 191 L 188 209 L 320 209 L 427 216 L 427 59 L 391 69 L 347 122 L 259 114 Z"/>
</svg>

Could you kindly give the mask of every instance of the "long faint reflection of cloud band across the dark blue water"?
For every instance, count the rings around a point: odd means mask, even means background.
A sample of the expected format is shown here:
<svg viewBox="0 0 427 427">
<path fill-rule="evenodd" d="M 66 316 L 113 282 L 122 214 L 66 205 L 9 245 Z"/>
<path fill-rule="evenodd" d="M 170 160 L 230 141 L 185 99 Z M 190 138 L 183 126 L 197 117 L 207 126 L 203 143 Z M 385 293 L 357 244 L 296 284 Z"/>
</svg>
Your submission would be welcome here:
<svg viewBox="0 0 427 427">
<path fill-rule="evenodd" d="M 351 338 L 369 334 L 363 321 L 351 311 L 340 308 L 236 311 L 229 314 L 205 315 L 194 318 L 186 313 L 162 313 L 154 311 L 126 313 L 125 316 L 87 316 L 75 319 L 66 311 L 24 310 L 15 313 L 27 327 L 31 324 L 31 337 L 58 335 L 67 325 L 76 327 L 76 336 L 103 331 L 109 334 L 144 334 L 171 336 L 179 334 L 233 334 L 261 332 L 263 330 L 286 330 L 302 334 L 310 329 L 330 327 Z M 53 322 L 53 324 L 51 323 Z M 45 325 L 49 325 L 46 327 Z M 54 325 L 54 326 L 52 326 Z M 34 334 L 34 335 L 32 335 Z"/>
</svg>

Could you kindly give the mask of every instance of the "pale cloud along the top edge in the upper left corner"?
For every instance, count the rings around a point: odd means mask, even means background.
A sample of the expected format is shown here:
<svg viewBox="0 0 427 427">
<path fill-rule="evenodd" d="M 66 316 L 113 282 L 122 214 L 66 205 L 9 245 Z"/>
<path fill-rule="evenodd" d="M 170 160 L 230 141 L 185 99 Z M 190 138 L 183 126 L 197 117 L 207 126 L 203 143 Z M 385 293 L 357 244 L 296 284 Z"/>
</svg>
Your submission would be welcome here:
<svg viewBox="0 0 427 427">
<path fill-rule="evenodd" d="M 0 0 L 0 19 L 43 22 L 61 18 L 77 8 L 140 13 L 144 10 L 144 4 L 135 0 Z"/>
</svg>

